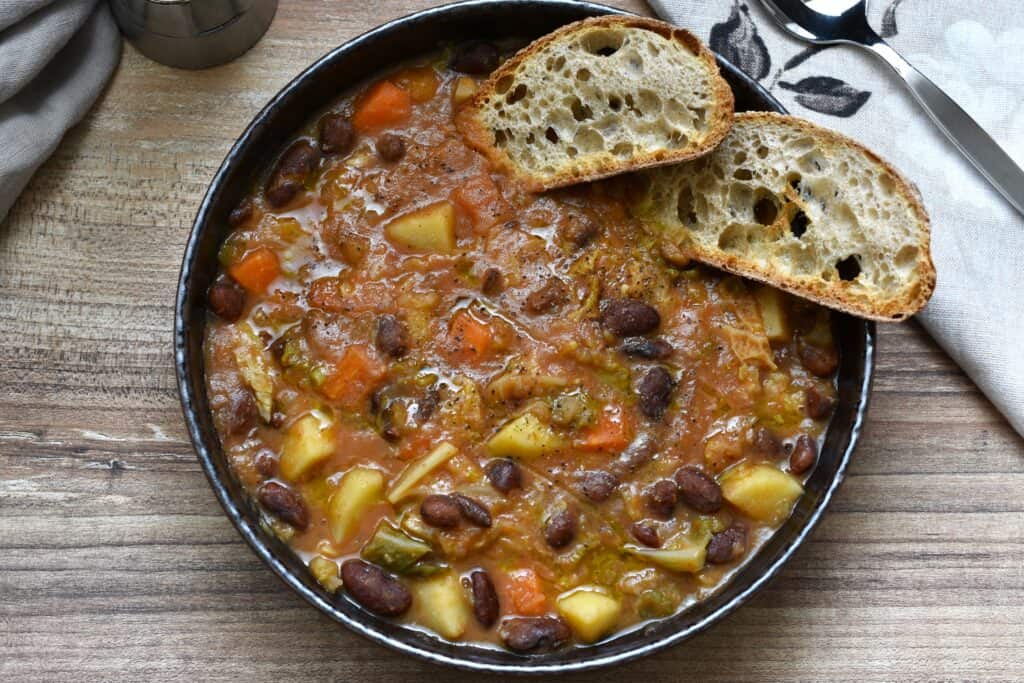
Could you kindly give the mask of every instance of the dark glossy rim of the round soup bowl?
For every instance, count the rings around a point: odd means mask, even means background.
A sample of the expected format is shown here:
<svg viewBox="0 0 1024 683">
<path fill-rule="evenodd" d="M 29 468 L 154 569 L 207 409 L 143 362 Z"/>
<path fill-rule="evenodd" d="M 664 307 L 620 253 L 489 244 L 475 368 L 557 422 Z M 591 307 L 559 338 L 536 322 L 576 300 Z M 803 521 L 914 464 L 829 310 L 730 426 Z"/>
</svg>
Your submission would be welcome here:
<svg viewBox="0 0 1024 683">
<path fill-rule="evenodd" d="M 611 665 L 624 664 L 626 661 L 637 659 L 641 656 L 652 654 L 706 631 L 713 624 L 732 613 L 735 609 L 744 604 L 751 597 L 763 589 L 768 583 L 770 583 L 782 566 L 788 562 L 797 549 L 803 545 L 807 537 L 817 526 L 818 521 L 827 509 L 836 490 L 843 482 L 851 456 L 859 440 L 867 411 L 873 376 L 876 348 L 876 327 L 873 323 L 869 321 L 863 322 L 864 350 L 863 367 L 861 369 L 862 377 L 860 378 L 859 385 L 856 388 L 857 402 L 854 407 L 848 442 L 842 453 L 839 454 L 836 473 L 828 482 L 827 486 L 821 493 L 817 503 L 815 504 L 814 510 L 802 522 L 799 531 L 779 552 L 778 556 L 768 564 L 765 570 L 760 572 L 753 581 L 750 582 L 749 585 L 732 596 L 727 602 L 687 627 L 682 628 L 675 633 L 671 633 L 668 636 L 651 639 L 649 642 L 645 642 L 631 649 L 618 652 L 602 653 L 600 652 L 600 644 L 598 644 L 593 650 L 593 656 L 574 661 L 548 663 L 535 655 L 524 656 L 513 663 L 497 663 L 481 661 L 473 658 L 452 655 L 441 651 L 439 648 L 429 649 L 421 647 L 415 643 L 406 642 L 401 638 L 394 637 L 393 635 L 378 630 L 374 628 L 373 625 L 368 624 L 366 614 L 362 612 L 359 613 L 359 618 L 353 618 L 335 607 L 333 604 L 321 598 L 321 596 L 303 584 L 300 579 L 274 555 L 273 551 L 268 546 L 268 541 L 261 538 L 263 531 L 245 518 L 243 506 L 240 505 L 240 503 L 231 496 L 227 485 L 221 480 L 221 475 L 217 471 L 214 463 L 214 455 L 207 446 L 199 424 L 198 413 L 200 408 L 197 404 L 198 399 L 189 382 L 193 361 L 189 357 L 188 328 L 186 325 L 187 315 L 185 313 L 185 308 L 188 305 L 191 289 L 190 285 L 194 278 L 194 271 L 197 267 L 200 238 L 202 237 L 204 230 L 209 226 L 209 222 L 211 220 L 211 208 L 214 204 L 217 188 L 224 183 L 226 176 L 229 174 L 232 166 L 232 160 L 240 156 L 242 151 L 251 143 L 251 139 L 257 136 L 260 132 L 259 128 L 261 127 L 261 122 L 263 122 L 266 117 L 276 110 L 292 92 L 299 89 L 303 83 L 307 80 L 317 78 L 317 74 L 322 70 L 326 69 L 329 63 L 335 59 L 342 58 L 347 52 L 354 51 L 366 43 L 371 43 L 382 36 L 387 35 L 407 23 L 433 17 L 443 17 L 450 13 L 459 11 L 473 9 L 485 11 L 487 9 L 493 9 L 496 5 L 547 5 L 552 8 L 559 9 L 571 8 L 582 14 L 586 13 L 588 15 L 633 13 L 616 7 L 609 7 L 592 2 L 577 2 L 574 0 L 463 0 L 461 2 L 416 11 L 380 25 L 331 49 L 326 54 L 317 58 L 313 63 L 303 69 L 294 79 L 279 90 L 278 93 L 275 93 L 270 100 L 252 118 L 243 133 L 239 135 L 232 143 L 230 150 L 227 152 L 218 167 L 216 174 L 210 181 L 203 201 L 200 204 L 199 210 L 197 211 L 196 218 L 193 222 L 188 240 L 185 245 L 175 296 L 175 377 L 188 436 L 197 454 L 197 458 L 202 465 L 203 472 L 205 473 L 210 486 L 213 488 L 217 501 L 224 510 L 224 513 L 227 515 L 228 519 L 231 521 L 239 533 L 243 537 L 243 539 L 245 539 L 250 548 L 273 571 L 273 573 L 293 591 L 316 607 L 321 612 L 325 613 L 333 621 L 342 624 L 350 631 L 377 644 L 384 645 L 389 649 L 411 654 L 422 660 L 451 666 L 464 671 L 514 675 L 590 671 Z M 786 113 L 786 110 L 778 102 L 778 100 L 768 93 L 768 91 L 766 91 L 760 83 L 751 79 L 735 66 L 724 59 L 721 55 L 716 54 L 716 57 L 723 71 L 728 72 L 734 78 L 743 81 L 745 85 L 756 92 L 764 102 L 771 105 L 771 108 L 775 111 L 782 114 Z M 351 83 L 346 84 L 345 87 L 354 85 L 357 82 L 358 79 L 353 79 Z M 339 91 L 340 90 L 341 88 L 339 88 Z M 199 362 L 202 366 L 202 357 L 200 357 Z M 728 582 L 725 585 L 728 585 Z M 438 642 L 440 643 L 441 641 Z M 503 654 L 505 653 L 501 650 L 498 651 Z"/>
</svg>

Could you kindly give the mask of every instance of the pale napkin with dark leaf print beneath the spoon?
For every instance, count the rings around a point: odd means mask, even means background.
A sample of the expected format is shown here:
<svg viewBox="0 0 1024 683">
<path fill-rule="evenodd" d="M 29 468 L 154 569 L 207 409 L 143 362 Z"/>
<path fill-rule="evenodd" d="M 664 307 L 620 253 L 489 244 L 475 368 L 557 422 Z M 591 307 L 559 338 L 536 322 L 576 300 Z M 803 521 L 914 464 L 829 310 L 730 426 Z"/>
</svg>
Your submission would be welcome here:
<svg viewBox="0 0 1024 683">
<path fill-rule="evenodd" d="M 1024 434 L 1024 217 L 974 170 L 902 80 L 853 46 L 784 34 L 757 0 L 649 0 L 790 112 L 856 138 L 921 189 L 938 286 L 919 319 Z M 868 2 L 877 31 L 1024 163 L 1020 0 Z M 927 370 L 921 381 L 927 384 Z"/>
</svg>

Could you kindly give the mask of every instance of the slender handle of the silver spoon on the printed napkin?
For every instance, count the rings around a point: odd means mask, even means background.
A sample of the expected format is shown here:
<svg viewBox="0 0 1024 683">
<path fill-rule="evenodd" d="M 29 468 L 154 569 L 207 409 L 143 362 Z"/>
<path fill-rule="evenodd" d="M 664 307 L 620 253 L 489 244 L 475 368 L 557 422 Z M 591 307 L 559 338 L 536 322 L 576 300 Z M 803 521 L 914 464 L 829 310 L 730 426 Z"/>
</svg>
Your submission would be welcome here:
<svg viewBox="0 0 1024 683">
<path fill-rule="evenodd" d="M 974 167 L 999 190 L 1007 201 L 1024 214 L 1024 171 L 1010 158 L 991 135 L 971 118 L 939 86 L 913 68 L 881 38 L 863 44 L 899 74 L 914 98 L 943 133 L 956 145 Z"/>
</svg>

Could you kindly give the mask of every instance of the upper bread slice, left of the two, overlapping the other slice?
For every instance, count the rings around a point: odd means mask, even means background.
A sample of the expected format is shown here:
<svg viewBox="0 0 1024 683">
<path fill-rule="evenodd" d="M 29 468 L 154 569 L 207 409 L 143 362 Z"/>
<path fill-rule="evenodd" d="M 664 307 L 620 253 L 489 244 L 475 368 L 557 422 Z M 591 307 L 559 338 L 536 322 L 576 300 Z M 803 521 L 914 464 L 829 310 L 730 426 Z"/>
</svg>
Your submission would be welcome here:
<svg viewBox="0 0 1024 683">
<path fill-rule="evenodd" d="M 496 167 L 541 191 L 705 155 L 732 111 L 732 90 L 692 34 L 600 16 L 520 50 L 456 122 Z"/>
</svg>

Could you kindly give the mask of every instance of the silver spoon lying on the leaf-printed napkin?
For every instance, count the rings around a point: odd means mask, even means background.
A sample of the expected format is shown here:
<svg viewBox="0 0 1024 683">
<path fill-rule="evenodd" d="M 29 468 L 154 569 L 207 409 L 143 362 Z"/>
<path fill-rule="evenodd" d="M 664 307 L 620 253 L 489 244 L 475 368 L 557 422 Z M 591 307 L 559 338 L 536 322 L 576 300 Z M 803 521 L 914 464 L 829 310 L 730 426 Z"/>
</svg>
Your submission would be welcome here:
<svg viewBox="0 0 1024 683">
<path fill-rule="evenodd" d="M 1024 214 L 1024 171 L 959 104 L 874 33 L 867 24 L 865 0 L 761 0 L 761 4 L 801 40 L 859 45 L 882 57 L 906 81 L 935 125 Z"/>
</svg>

